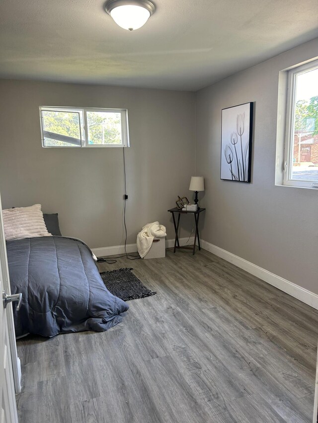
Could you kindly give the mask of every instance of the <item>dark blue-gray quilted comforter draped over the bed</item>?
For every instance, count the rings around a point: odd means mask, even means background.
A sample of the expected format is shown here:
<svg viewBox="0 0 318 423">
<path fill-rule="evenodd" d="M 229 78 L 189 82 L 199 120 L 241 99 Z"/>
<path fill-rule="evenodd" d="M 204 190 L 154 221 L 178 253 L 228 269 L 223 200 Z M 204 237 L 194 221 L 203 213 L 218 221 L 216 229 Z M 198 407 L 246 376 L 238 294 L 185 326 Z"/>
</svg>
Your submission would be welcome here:
<svg viewBox="0 0 318 423">
<path fill-rule="evenodd" d="M 54 336 L 84 330 L 105 331 L 122 320 L 126 302 L 105 287 L 91 251 L 79 240 L 39 237 L 6 243 L 15 334 Z"/>
</svg>

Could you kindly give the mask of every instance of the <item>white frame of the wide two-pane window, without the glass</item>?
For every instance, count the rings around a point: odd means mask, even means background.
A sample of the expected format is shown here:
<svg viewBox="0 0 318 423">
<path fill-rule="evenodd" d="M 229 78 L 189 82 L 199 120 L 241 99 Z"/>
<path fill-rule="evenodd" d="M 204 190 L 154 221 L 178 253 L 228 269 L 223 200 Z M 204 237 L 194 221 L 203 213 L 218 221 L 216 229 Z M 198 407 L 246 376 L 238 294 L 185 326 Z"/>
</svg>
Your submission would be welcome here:
<svg viewBox="0 0 318 423">
<path fill-rule="evenodd" d="M 127 109 L 106 109 L 106 108 L 95 108 L 95 107 L 52 107 L 52 106 L 40 106 L 40 124 L 41 124 L 41 138 L 42 147 L 44 148 L 77 148 L 77 147 L 129 147 L 129 132 L 128 132 L 128 110 Z M 79 114 L 80 122 L 80 145 L 69 146 L 69 145 L 44 145 L 44 134 L 43 134 L 43 116 L 42 112 L 72 112 Z M 87 115 L 86 112 L 110 112 L 120 113 L 121 115 L 121 144 L 88 144 L 88 126 L 87 126 Z M 82 116 L 82 119 L 81 119 Z"/>
</svg>

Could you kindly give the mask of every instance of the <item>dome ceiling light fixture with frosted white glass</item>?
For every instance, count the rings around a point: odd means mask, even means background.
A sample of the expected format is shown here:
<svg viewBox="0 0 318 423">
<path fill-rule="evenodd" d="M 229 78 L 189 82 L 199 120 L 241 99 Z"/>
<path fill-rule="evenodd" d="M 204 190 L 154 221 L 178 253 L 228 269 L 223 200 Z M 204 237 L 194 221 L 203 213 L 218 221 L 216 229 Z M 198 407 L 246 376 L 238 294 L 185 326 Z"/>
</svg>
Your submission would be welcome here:
<svg viewBox="0 0 318 423">
<path fill-rule="evenodd" d="M 104 8 L 121 28 L 133 31 L 141 28 L 155 11 L 149 0 L 108 0 Z"/>
</svg>

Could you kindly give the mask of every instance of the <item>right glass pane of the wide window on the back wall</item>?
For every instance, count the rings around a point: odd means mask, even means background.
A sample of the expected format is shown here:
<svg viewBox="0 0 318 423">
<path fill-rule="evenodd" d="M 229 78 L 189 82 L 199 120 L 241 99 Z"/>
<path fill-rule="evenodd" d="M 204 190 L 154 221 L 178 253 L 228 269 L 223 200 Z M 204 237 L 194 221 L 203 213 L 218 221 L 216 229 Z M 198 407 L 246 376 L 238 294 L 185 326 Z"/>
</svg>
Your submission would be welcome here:
<svg viewBox="0 0 318 423">
<path fill-rule="evenodd" d="M 120 112 L 87 112 L 88 144 L 122 144 Z"/>
</svg>

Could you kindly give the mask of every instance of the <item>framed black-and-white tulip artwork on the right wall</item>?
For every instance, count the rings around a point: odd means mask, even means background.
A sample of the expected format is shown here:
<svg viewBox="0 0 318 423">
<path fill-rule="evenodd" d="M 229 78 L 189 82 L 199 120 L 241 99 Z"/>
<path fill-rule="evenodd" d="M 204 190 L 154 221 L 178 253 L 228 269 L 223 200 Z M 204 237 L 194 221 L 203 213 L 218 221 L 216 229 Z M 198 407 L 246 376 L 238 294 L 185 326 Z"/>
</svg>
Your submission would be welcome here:
<svg viewBox="0 0 318 423">
<path fill-rule="evenodd" d="M 253 103 L 222 109 L 221 179 L 250 182 Z"/>
</svg>

